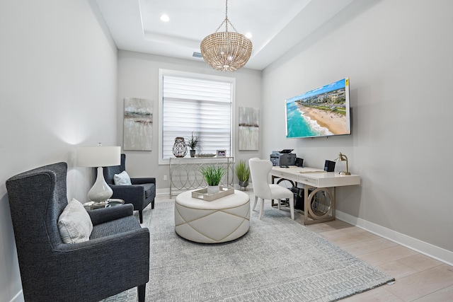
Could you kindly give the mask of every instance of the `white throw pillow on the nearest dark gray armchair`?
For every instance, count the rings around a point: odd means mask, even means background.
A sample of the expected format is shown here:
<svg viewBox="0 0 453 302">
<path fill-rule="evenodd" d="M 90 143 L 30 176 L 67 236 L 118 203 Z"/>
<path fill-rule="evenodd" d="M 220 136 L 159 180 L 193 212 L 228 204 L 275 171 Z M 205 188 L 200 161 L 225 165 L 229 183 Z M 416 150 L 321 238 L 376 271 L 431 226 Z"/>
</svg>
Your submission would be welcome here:
<svg viewBox="0 0 453 302">
<path fill-rule="evenodd" d="M 64 243 L 81 243 L 90 239 L 93 223 L 77 199 L 68 202 L 59 216 L 58 231 Z"/>
</svg>

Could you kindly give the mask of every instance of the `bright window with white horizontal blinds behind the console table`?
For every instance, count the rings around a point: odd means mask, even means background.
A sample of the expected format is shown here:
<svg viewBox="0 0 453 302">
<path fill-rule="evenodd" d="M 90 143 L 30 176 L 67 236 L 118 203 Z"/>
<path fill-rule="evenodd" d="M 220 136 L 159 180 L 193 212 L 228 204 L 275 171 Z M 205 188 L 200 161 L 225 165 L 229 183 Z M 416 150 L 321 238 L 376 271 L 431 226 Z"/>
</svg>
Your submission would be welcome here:
<svg viewBox="0 0 453 302">
<path fill-rule="evenodd" d="M 173 156 L 176 137 L 187 143 L 192 132 L 201 153 L 226 150 L 233 156 L 234 79 L 166 70 L 159 76 L 159 163 Z"/>
</svg>

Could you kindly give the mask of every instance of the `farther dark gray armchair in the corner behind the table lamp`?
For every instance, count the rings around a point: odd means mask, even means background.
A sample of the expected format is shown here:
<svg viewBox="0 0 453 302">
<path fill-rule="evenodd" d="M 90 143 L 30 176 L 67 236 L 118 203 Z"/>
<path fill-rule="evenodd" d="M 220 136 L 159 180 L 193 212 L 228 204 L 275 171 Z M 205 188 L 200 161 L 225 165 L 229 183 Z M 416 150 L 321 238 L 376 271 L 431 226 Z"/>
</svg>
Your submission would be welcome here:
<svg viewBox="0 0 453 302">
<path fill-rule="evenodd" d="M 131 178 L 132 185 L 115 185 L 113 177 L 126 170 L 126 154 L 121 154 L 121 164 L 104 167 L 105 182 L 112 188 L 112 198 L 123 199 L 126 204 L 133 204 L 134 210 L 139 211 L 140 223 L 143 223 L 143 209 L 151 204 L 154 209 L 156 197 L 156 178 Z"/>
</svg>

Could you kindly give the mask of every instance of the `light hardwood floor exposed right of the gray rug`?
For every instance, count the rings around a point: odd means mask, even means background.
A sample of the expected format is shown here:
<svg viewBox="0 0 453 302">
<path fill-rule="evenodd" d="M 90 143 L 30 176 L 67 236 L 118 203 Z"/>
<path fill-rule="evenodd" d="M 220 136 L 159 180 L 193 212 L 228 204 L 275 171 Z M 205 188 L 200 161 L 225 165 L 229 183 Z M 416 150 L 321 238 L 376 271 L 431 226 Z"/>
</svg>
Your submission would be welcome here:
<svg viewBox="0 0 453 302">
<path fill-rule="evenodd" d="M 302 214 L 296 221 L 303 224 Z M 306 227 L 396 279 L 342 301 L 453 301 L 453 267 L 344 221 Z"/>
</svg>

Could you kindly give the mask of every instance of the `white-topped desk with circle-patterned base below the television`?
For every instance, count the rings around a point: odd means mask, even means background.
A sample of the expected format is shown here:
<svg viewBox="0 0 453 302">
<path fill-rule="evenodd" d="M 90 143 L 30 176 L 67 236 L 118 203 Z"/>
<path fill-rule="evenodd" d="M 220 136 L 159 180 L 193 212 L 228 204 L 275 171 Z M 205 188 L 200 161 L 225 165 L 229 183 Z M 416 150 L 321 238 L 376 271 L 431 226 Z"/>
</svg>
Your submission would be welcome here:
<svg viewBox="0 0 453 302">
<path fill-rule="evenodd" d="M 345 185 L 360 185 L 360 175 L 340 175 L 316 168 L 273 167 L 272 183 L 288 180 L 304 188 L 304 224 L 335 220 L 335 190 Z M 275 182 L 277 180 L 277 182 Z M 311 219 L 311 220 L 309 220 Z"/>
</svg>

